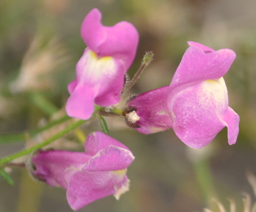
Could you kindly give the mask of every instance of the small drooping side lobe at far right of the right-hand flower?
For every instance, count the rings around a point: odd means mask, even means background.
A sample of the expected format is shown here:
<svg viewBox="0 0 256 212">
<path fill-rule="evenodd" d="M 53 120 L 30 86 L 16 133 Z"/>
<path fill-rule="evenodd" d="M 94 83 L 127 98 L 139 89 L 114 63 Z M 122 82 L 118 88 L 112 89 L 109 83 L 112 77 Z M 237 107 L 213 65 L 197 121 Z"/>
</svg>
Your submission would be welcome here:
<svg viewBox="0 0 256 212">
<path fill-rule="evenodd" d="M 228 144 L 236 143 L 239 131 L 239 116 L 234 110 L 228 107 L 227 112 L 222 116 L 225 125 L 228 127 Z"/>
</svg>

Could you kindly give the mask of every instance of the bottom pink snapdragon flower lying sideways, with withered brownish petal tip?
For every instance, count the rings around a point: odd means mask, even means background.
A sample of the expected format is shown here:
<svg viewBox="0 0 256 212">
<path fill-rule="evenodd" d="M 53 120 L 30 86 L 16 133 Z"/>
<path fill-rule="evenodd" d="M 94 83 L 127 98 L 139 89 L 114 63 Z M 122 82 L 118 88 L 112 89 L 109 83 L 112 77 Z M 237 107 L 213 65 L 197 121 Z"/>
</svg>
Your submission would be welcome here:
<svg viewBox="0 0 256 212">
<path fill-rule="evenodd" d="M 48 150 L 32 158 L 36 168 L 32 174 L 50 186 L 65 188 L 73 210 L 111 194 L 118 199 L 129 190 L 126 170 L 134 156 L 126 146 L 94 132 L 88 135 L 84 147 L 85 153 Z"/>
</svg>

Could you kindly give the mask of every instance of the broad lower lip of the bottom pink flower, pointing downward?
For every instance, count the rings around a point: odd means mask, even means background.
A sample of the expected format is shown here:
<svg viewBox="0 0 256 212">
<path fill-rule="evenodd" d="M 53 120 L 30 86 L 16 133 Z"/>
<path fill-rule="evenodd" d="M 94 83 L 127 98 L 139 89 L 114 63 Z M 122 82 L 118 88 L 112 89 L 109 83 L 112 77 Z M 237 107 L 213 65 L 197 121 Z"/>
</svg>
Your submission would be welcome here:
<svg viewBox="0 0 256 212">
<path fill-rule="evenodd" d="M 124 174 L 116 172 L 81 172 L 69 169 L 63 174 L 67 183 L 67 200 L 73 210 L 91 202 L 115 194 L 128 182 Z"/>
</svg>

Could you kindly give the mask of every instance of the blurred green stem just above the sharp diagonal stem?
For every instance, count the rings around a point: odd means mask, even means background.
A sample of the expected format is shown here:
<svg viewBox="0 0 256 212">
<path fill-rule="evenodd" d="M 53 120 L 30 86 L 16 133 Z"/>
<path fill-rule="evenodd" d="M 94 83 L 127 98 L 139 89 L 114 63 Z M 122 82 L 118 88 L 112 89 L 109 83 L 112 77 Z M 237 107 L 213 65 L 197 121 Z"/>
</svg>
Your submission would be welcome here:
<svg viewBox="0 0 256 212">
<path fill-rule="evenodd" d="M 16 133 L 16 134 L 2 134 L 2 135 L 0 135 L 0 144 L 23 141 L 23 140 L 26 140 L 26 138 L 28 138 L 28 137 L 33 138 L 38 133 L 43 132 L 44 130 L 48 130 L 49 128 L 51 128 L 57 124 L 60 124 L 68 119 L 70 119 L 70 117 L 65 115 L 59 119 L 56 119 L 56 120 L 46 124 L 45 126 L 37 128 L 35 130 L 31 130 L 29 132 L 22 132 L 22 133 Z"/>
</svg>

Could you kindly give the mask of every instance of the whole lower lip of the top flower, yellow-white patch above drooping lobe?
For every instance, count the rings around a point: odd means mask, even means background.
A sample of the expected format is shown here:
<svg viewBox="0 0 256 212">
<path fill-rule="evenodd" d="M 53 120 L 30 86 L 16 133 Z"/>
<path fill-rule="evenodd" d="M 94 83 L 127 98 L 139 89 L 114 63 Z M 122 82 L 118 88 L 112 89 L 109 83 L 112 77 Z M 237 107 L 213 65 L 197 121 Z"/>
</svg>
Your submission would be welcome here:
<svg viewBox="0 0 256 212">
<path fill-rule="evenodd" d="M 94 111 L 94 103 L 102 107 L 116 104 L 123 87 L 124 67 L 112 57 L 98 58 L 85 49 L 76 64 L 76 80 L 68 85 L 68 116 L 88 119 Z"/>
</svg>

